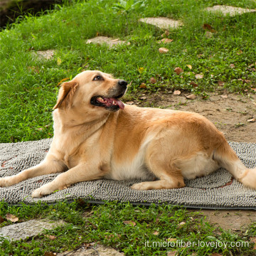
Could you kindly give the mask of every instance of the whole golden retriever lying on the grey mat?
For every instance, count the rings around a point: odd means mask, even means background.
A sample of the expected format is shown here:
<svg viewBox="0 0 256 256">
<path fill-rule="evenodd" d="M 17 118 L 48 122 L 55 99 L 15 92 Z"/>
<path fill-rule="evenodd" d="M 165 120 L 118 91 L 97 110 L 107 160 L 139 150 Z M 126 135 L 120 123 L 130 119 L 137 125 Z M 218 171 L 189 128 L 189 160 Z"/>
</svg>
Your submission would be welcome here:
<svg viewBox="0 0 256 256">
<path fill-rule="evenodd" d="M 19 174 L 0 178 L 0 186 L 62 172 L 32 196 L 46 196 L 80 181 L 152 174 L 156 180 L 132 188 L 182 188 L 184 178 L 224 167 L 256 189 L 256 168 L 242 164 L 212 122 L 193 112 L 124 105 L 119 99 L 126 91 L 126 81 L 96 70 L 63 82 L 53 107 L 54 136 L 46 158 Z"/>
</svg>

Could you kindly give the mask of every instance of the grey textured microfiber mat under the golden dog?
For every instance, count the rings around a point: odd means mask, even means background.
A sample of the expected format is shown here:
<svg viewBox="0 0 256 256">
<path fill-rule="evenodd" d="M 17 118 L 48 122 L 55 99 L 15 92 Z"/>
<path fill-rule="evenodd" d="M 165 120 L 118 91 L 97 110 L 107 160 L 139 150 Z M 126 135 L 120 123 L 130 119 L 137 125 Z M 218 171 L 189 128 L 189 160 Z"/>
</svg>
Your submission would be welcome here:
<svg viewBox="0 0 256 256">
<path fill-rule="evenodd" d="M 18 142 L 0 144 L 0 177 L 11 176 L 28 167 L 40 163 L 46 156 L 51 139 L 36 142 Z M 230 146 L 245 166 L 256 166 L 256 144 L 230 142 Z M 219 169 L 209 176 L 186 180 L 185 188 L 135 191 L 130 186 L 141 180 L 112 181 L 100 179 L 73 184 L 70 188 L 57 191 L 43 198 L 32 198 L 36 188 L 48 183 L 58 176 L 49 174 L 29 178 L 14 186 L 0 188 L 0 201 L 10 204 L 46 203 L 72 201 L 85 198 L 88 201 L 129 201 L 131 203 L 170 203 L 194 208 L 236 208 L 256 210 L 256 191 L 245 188 L 225 169 Z"/>
</svg>

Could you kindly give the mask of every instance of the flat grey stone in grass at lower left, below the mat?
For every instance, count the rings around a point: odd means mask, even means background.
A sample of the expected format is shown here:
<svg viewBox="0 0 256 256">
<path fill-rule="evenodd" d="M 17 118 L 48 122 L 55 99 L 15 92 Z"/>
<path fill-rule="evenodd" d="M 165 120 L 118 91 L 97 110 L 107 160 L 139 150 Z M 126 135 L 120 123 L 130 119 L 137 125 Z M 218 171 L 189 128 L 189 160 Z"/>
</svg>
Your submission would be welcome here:
<svg viewBox="0 0 256 256">
<path fill-rule="evenodd" d="M 9 240 L 20 240 L 25 238 L 31 238 L 34 235 L 39 235 L 43 230 L 51 230 L 58 227 L 59 225 L 64 225 L 63 220 L 28 220 L 23 223 L 16 223 L 13 225 L 7 225 L 3 228 L 0 228 L 0 236 L 3 236 Z"/>
</svg>

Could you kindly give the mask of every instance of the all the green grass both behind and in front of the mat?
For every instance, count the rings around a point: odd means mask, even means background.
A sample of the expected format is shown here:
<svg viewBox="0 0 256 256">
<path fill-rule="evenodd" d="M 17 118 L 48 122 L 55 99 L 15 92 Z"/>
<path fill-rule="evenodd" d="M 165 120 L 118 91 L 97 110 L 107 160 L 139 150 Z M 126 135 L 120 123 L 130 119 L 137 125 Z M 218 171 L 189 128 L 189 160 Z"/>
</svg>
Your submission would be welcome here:
<svg viewBox="0 0 256 256">
<path fill-rule="evenodd" d="M 203 11 L 217 4 L 256 8 L 251 0 L 142 0 L 66 1 L 52 11 L 21 16 L 0 32 L 0 142 L 21 142 L 53 137 L 51 112 L 58 85 L 82 70 L 102 70 L 128 82 L 126 100 L 139 100 L 144 93 L 181 90 L 206 98 L 209 92 L 225 90 L 255 94 L 256 16 L 221 16 Z M 166 16 L 183 22 L 169 30 L 169 44 L 159 43 L 165 32 L 139 18 Z M 209 26 L 203 26 L 208 24 Z M 212 31 L 210 37 L 206 36 Z M 89 38 L 110 36 L 128 44 L 109 48 L 87 44 Z M 159 53 L 159 48 L 168 53 Z M 38 58 L 37 50 L 55 50 L 50 60 Z M 184 72 L 177 75 L 175 68 Z M 203 75 L 196 79 L 195 75 Z M 156 83 L 150 82 L 151 78 Z M 142 82 L 145 86 L 141 87 Z M 195 86 L 196 84 L 196 86 Z M 166 96 L 167 97 L 167 96 Z M 256 236 L 255 223 L 244 233 L 233 234 L 209 224 L 196 213 L 174 206 L 132 206 L 129 203 L 60 203 L 56 206 L 8 206 L 0 203 L 0 215 L 17 215 L 19 221 L 48 217 L 68 222 L 33 240 L 4 240 L 0 255 L 43 255 L 87 242 L 125 252 L 125 255 L 163 255 L 166 247 L 146 247 L 146 241 L 176 238 L 186 241 L 249 241 Z M 136 225 L 125 225 L 132 220 Z M 179 223 L 186 223 L 180 225 Z M 4 221 L 0 224 L 9 225 Z M 47 233 L 47 232 L 46 232 Z M 180 255 L 254 255 L 249 247 L 177 247 Z M 231 253 L 231 254 L 230 254 Z"/>
</svg>

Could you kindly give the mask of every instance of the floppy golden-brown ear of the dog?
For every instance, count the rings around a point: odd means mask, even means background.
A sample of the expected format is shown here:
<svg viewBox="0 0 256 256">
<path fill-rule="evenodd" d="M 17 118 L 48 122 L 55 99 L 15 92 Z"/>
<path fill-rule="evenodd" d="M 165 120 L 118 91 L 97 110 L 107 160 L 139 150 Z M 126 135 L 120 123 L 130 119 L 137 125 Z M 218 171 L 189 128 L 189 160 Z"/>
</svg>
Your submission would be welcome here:
<svg viewBox="0 0 256 256">
<path fill-rule="evenodd" d="M 77 88 L 78 88 L 78 82 L 75 82 L 75 81 L 63 82 L 63 84 L 60 87 L 57 103 L 53 107 L 53 110 L 60 107 L 64 107 L 64 108 L 71 107 L 75 90 L 77 90 Z"/>
</svg>

